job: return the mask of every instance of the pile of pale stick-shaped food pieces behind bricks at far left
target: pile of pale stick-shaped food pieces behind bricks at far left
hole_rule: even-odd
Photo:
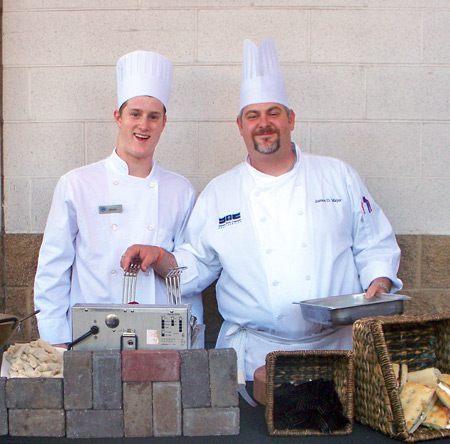
[[[11,364],[9,378],[63,377],[62,353],[42,339],[11,345],[4,357]]]

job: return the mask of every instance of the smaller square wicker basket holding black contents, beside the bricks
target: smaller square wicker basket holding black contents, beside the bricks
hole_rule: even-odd
[[[266,422],[270,435],[348,435],[353,430],[353,353],[350,351],[275,351],[266,357]],[[322,433],[316,429],[276,429],[274,426],[274,389],[282,383],[301,383],[316,379],[333,380],[335,390],[349,423],[342,429]]]

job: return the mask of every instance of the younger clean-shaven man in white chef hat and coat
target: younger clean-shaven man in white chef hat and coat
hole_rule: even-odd
[[[75,303],[122,303],[122,253],[133,243],[172,251],[184,241],[195,201],[188,180],[153,160],[166,125],[170,60],[135,51],[119,59],[116,75],[117,147],[107,159],[61,177],[45,228],[34,300],[39,334],[52,344],[72,340]],[[139,273],[136,300],[166,302],[165,281],[152,269]],[[189,302],[202,322],[201,295]]]

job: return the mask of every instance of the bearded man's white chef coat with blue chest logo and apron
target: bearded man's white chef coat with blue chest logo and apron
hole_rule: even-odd
[[[402,286],[392,227],[358,174],[340,160],[295,149],[297,161],[282,176],[247,161],[214,179],[175,252],[188,267],[185,294],[220,276],[225,322],[216,346],[245,349],[247,380],[272,350],[351,348],[351,326],[324,331],[293,303],[358,293],[382,276],[392,291]]]

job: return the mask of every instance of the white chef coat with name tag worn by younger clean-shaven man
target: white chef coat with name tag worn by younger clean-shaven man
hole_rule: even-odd
[[[114,151],[59,180],[45,228],[34,286],[39,334],[51,343],[72,340],[76,303],[122,303],[120,259],[132,244],[168,251],[184,241],[195,192],[184,177],[153,162],[150,175],[128,175]],[[121,205],[121,212],[111,208]],[[100,214],[100,208],[107,207]],[[113,210],[114,211],[114,210]],[[166,304],[165,280],[150,268],[138,273],[136,301]],[[184,300],[183,302],[187,302]],[[202,323],[201,294],[189,298]]]

